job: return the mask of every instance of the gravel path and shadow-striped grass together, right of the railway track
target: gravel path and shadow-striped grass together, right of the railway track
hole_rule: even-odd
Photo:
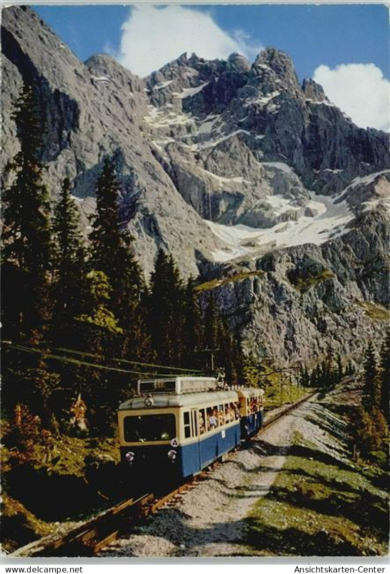
[[[385,553],[383,532],[369,530],[369,522],[379,515],[365,515],[363,519],[359,513],[355,517],[350,512],[352,507],[356,510],[364,492],[376,506],[386,506],[385,492],[373,490],[372,483],[349,460],[346,422],[330,408],[334,401],[342,403],[344,398],[340,389],[331,398],[319,400],[315,395],[232,455],[209,479],[186,492],[177,506],[163,509],[100,556]],[[297,460],[303,461],[305,470],[294,467]],[[323,484],[316,486],[315,472],[324,475],[327,468],[334,472],[337,495],[336,491],[329,495]],[[351,496],[356,491],[357,498],[343,498],[343,488]],[[337,511],[332,513],[329,507],[335,496]],[[379,517],[384,520],[384,530],[385,513]],[[336,527],[327,526],[328,522],[334,524],[334,515],[338,515],[340,525],[337,532]]]

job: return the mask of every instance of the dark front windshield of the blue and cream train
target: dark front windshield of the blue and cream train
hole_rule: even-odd
[[[157,440],[172,440],[176,437],[174,414],[125,417],[123,428],[126,443],[147,443]]]

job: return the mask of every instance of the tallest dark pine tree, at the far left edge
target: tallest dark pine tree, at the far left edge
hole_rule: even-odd
[[[42,183],[40,148],[41,113],[33,88],[24,84],[15,102],[13,119],[20,151],[12,169],[15,178],[3,193],[3,290],[10,297],[7,319],[15,321],[13,336],[40,342],[50,317],[48,271],[52,257],[50,203]],[[19,297],[11,297],[15,282],[21,281]],[[13,300],[13,301],[12,301]]]

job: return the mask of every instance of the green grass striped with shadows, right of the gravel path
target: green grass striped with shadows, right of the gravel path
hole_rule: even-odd
[[[248,553],[384,556],[388,497],[374,486],[373,474],[295,435],[286,465],[247,518]]]

